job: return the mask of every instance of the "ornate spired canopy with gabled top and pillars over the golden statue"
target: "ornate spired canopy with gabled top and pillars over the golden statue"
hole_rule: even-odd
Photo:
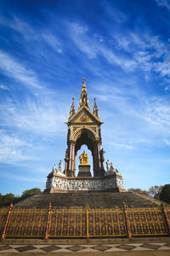
[[[94,112],[88,106],[88,92],[85,79],[82,79],[82,91],[79,108],[75,113],[74,98],[72,99],[70,117],[67,121],[68,134],[65,153],[65,174],[75,177],[77,151],[83,144],[91,150],[94,163],[94,176],[104,176],[104,158],[101,158],[101,133],[102,125],[98,115],[98,107],[94,99]]]

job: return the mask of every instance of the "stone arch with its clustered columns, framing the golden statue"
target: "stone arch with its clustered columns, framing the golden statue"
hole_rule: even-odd
[[[101,139],[98,139],[96,133],[89,128],[78,128],[67,141],[68,148],[65,155],[65,174],[67,177],[75,177],[77,151],[86,145],[92,152],[94,176],[103,176],[104,167],[100,160]]]

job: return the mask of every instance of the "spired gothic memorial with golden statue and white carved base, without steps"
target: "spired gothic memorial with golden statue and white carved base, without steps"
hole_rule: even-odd
[[[65,170],[63,163],[59,161],[59,168],[54,165],[52,172],[48,174],[46,192],[70,192],[70,191],[119,191],[125,192],[122,175],[109,162],[106,161],[105,150],[101,148],[102,139],[100,126],[103,123],[99,119],[99,109],[94,98],[94,112],[88,105],[88,92],[85,79],[82,79],[82,91],[79,107],[76,112],[74,98],[72,98],[68,125],[67,148],[65,150]],[[79,156],[79,172],[76,177],[77,152],[82,145],[87,145],[93,157],[94,177],[88,165],[88,154],[83,152]]]

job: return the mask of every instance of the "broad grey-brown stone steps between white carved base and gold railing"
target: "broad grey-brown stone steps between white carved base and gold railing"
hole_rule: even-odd
[[[91,192],[91,193],[54,193],[38,194],[20,201],[15,207],[157,207],[159,201],[150,201],[147,198],[132,192]]]

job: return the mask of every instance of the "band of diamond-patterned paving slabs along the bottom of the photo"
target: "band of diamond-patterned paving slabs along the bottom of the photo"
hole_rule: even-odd
[[[144,255],[144,252],[166,252],[167,255],[170,255],[170,243],[168,241],[166,242],[143,242],[143,243],[116,243],[116,244],[68,244],[68,245],[62,245],[62,244],[53,244],[53,245],[47,245],[47,244],[41,244],[41,245],[35,245],[35,244],[1,244],[0,245],[0,254],[5,253],[35,253],[35,255],[38,255],[39,253],[78,253],[79,255],[83,255],[84,253],[88,253],[87,255],[94,255],[94,253],[99,253],[101,255],[110,253],[123,253],[123,252],[140,252],[141,255]],[[159,255],[157,254],[148,254],[148,255]],[[9,255],[9,254],[8,254]],[[121,254],[120,254],[121,255]],[[132,254],[133,255],[133,254]],[[161,254],[160,254],[161,255]],[[166,255],[166,254],[162,254]]]

